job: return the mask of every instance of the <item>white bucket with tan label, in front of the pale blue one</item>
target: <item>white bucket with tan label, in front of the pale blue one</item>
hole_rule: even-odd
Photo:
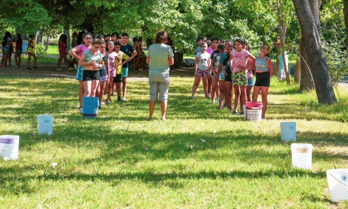
[[[292,167],[312,169],[312,144],[291,144]]]

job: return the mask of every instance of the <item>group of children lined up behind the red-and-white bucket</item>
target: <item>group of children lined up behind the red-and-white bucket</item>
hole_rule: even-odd
[[[243,105],[246,102],[257,102],[261,92],[263,104],[261,117],[264,118],[270,77],[273,74],[273,65],[268,54],[269,46],[262,45],[260,55],[254,57],[243,38],[234,41],[197,38],[196,42],[198,46],[195,50],[191,99],[195,99],[195,92],[202,81],[204,95],[211,99],[211,104],[215,104],[216,101],[219,103],[218,109],[227,107],[232,114],[243,115]],[[254,92],[251,97],[253,87]],[[232,106],[233,91],[234,106]],[[239,105],[241,111],[238,113]]]

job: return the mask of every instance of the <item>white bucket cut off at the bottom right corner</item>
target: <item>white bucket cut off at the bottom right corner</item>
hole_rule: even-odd
[[[330,169],[326,171],[332,202],[348,200],[348,169]]]

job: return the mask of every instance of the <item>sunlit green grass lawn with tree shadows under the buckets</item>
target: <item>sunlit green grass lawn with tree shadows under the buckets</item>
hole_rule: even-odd
[[[339,104],[272,79],[268,119],[249,122],[210,105],[202,87],[190,100],[192,82],[171,78],[168,121],[159,106],[146,121],[148,82],[129,81],[129,102],[85,119],[74,79],[0,77],[1,134],[20,135],[19,159],[0,159],[1,208],[348,207],[330,202],[326,180],[348,165]],[[347,111],[348,87],[339,92]],[[36,135],[38,114],[54,115],[53,135]],[[312,170],[292,168],[280,121],[313,144]]]

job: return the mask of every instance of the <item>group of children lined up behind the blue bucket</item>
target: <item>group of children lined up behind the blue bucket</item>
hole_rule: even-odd
[[[125,102],[128,62],[137,55],[137,51],[128,43],[128,34],[122,33],[119,36],[114,32],[111,36],[96,35],[93,38],[91,33],[85,32],[82,41],[79,42],[77,39],[77,43],[80,44],[69,51],[72,57],[79,60],[76,66],[76,80],[80,83],[80,113],[83,112],[83,97],[98,97],[101,108],[105,90],[105,104],[111,102],[110,96],[115,89],[117,102]]]

